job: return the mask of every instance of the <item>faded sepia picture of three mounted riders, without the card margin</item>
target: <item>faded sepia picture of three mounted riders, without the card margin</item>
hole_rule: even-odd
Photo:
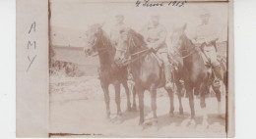
[[[50,137],[227,136],[229,2],[48,7]]]

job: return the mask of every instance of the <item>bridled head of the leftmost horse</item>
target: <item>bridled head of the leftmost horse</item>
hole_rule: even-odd
[[[96,23],[89,25],[89,28],[86,31],[87,42],[86,46],[84,47],[84,52],[89,56],[98,50],[98,43],[102,39],[103,35],[103,30],[101,27],[102,24]]]

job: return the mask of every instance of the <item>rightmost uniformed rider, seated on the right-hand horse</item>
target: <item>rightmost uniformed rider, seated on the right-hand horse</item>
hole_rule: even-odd
[[[209,23],[210,13],[204,12],[201,18],[201,24],[196,29],[196,36],[192,39],[192,42],[199,46],[203,51],[207,59],[210,61],[211,66],[216,74],[214,81],[215,87],[220,86],[220,79],[222,79],[221,64],[217,60],[217,48],[216,41],[218,38],[217,28],[213,24]]]

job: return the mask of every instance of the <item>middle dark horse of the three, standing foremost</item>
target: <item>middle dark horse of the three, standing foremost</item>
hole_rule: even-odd
[[[163,69],[152,49],[147,47],[146,42],[141,34],[133,29],[121,31],[121,35],[116,48],[115,61],[120,65],[129,64],[134,81],[135,89],[139,96],[140,121],[144,123],[144,92],[151,92],[151,106],[153,110],[153,125],[158,125],[157,117],[157,88],[164,87],[165,77]],[[170,100],[170,116],[173,116],[173,91],[166,89]],[[180,106],[183,113],[182,106]]]

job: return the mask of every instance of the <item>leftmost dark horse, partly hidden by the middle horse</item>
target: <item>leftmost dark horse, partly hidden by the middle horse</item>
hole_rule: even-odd
[[[114,85],[115,88],[115,103],[117,106],[117,117],[121,116],[120,109],[120,84],[123,85],[127,95],[127,110],[131,111],[130,92],[127,86],[127,67],[117,67],[114,63],[115,48],[111,45],[106,33],[102,30],[101,24],[93,24],[86,31],[87,45],[84,51],[87,55],[92,56],[97,52],[99,58],[99,79],[102,90],[104,92],[104,101],[106,105],[106,116],[110,117],[109,110],[109,91],[108,86]],[[136,108],[135,94],[133,95],[133,109]]]

